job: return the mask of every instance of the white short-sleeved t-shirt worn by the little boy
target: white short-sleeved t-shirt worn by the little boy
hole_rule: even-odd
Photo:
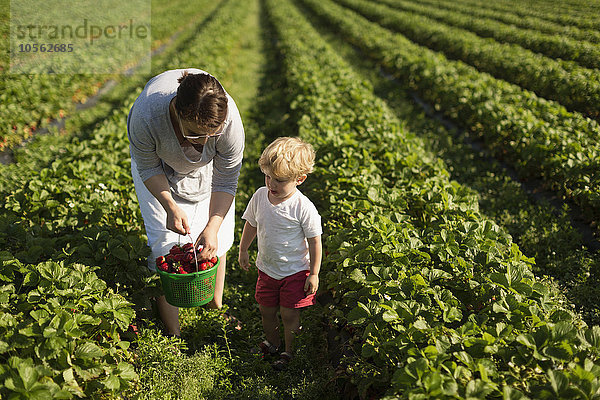
[[[315,205],[299,190],[273,205],[266,186],[252,196],[242,218],[257,228],[256,266],[274,279],[310,269],[306,238],[323,233]]]

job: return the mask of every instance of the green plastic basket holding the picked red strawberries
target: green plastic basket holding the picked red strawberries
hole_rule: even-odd
[[[175,307],[200,307],[215,296],[217,268],[221,259],[206,271],[171,274],[158,270],[167,302]]]

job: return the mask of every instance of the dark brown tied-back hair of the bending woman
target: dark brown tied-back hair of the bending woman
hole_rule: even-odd
[[[175,109],[181,118],[206,129],[218,128],[227,118],[227,95],[219,81],[208,74],[184,71],[177,80]]]

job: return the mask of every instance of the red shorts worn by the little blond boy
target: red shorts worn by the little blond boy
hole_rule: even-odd
[[[278,280],[258,270],[254,298],[265,307],[302,308],[316,302],[315,294],[306,295],[304,284],[309,271],[300,271]]]

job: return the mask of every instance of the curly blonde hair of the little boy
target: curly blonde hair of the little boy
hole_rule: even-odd
[[[258,159],[260,170],[278,179],[296,179],[313,171],[315,150],[295,137],[275,139]]]

